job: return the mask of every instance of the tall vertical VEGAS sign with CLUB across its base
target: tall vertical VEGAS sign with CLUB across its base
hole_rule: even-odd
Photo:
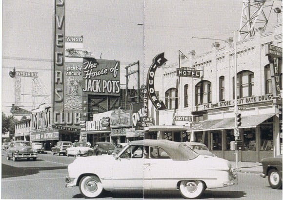
[[[81,111],[64,110],[65,1],[55,0],[53,120],[52,126],[67,131],[80,130]]]

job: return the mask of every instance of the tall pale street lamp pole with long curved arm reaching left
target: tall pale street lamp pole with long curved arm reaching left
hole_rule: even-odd
[[[199,38],[199,37],[192,37],[194,39],[205,39],[205,40],[221,40],[221,39],[213,39],[213,38]],[[234,49],[234,60],[235,60],[235,75],[234,75],[234,94],[235,94],[235,104],[234,104],[234,112],[235,112],[235,126],[234,126],[234,136],[235,140],[237,141],[240,137],[240,132],[239,132],[239,126],[237,123],[237,116],[238,116],[238,104],[237,104],[237,36],[236,36],[236,31],[234,31],[234,46],[226,41],[226,40],[221,40],[229,44],[233,49]],[[238,168],[238,148],[235,148],[235,154],[236,154],[236,168]]]

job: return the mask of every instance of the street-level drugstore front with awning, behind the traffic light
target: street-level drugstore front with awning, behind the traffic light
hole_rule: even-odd
[[[194,140],[206,144],[218,157],[235,161],[235,151],[231,147],[235,141],[235,118],[204,120],[200,123],[202,128],[191,132]],[[239,160],[259,162],[263,158],[273,157],[278,151],[282,152],[279,123],[279,117],[275,114],[242,117],[239,138],[243,143]]]

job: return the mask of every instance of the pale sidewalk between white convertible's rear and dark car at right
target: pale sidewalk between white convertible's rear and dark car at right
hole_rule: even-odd
[[[260,174],[263,172],[263,165],[260,162],[238,162],[238,168],[236,169],[236,162],[229,161],[232,164],[232,168],[235,168],[237,172]]]

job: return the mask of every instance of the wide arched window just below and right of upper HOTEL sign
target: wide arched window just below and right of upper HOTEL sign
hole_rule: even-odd
[[[195,105],[211,103],[211,82],[202,80],[195,86]]]

